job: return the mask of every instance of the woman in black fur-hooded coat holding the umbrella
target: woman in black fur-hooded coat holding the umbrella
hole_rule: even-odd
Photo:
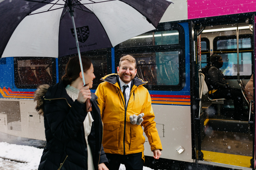
[[[46,147],[38,170],[108,170],[102,147],[103,124],[97,96],[90,92],[95,78],[91,61],[78,57],[67,63],[62,82],[35,91],[36,110],[44,116]],[[82,74],[85,83],[83,86]],[[85,102],[90,99],[92,111]]]

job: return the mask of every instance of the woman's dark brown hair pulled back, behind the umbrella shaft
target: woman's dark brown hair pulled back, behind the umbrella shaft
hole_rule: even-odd
[[[81,57],[82,65],[84,73],[90,69],[92,62],[87,57]],[[62,76],[61,80],[65,85],[70,85],[73,81],[75,81],[79,77],[79,73],[81,72],[80,63],[78,56],[74,56],[69,59],[66,68],[65,75]]]

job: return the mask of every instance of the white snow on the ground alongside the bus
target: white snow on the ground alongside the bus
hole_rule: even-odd
[[[35,148],[33,146],[24,146],[0,142],[0,170],[37,170],[43,149]],[[119,170],[125,170],[125,166],[121,164]],[[143,170],[152,170],[148,167],[143,167]]]

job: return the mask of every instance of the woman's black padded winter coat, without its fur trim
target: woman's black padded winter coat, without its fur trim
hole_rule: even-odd
[[[42,95],[46,147],[44,148],[38,170],[87,170],[87,145],[83,121],[87,115],[85,104],[73,101],[61,82],[48,88]],[[92,123],[88,143],[91,148],[94,169],[98,164],[108,163],[102,146],[103,124],[97,96],[91,94]]]

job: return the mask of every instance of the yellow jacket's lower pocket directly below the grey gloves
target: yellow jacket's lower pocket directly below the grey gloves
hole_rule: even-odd
[[[144,147],[145,137],[140,125],[131,124],[131,145],[130,150],[137,150]]]

